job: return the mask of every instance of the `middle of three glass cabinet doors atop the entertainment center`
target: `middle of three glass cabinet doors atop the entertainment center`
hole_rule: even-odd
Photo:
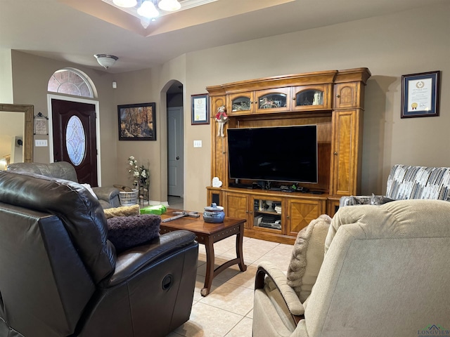
[[[257,91],[256,112],[281,112],[290,110],[290,88]]]

